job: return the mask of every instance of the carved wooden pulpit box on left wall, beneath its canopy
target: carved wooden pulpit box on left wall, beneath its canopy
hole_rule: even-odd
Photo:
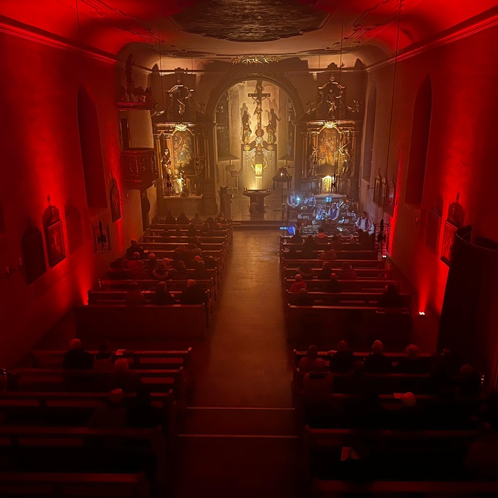
[[[135,148],[122,151],[124,181],[129,189],[147,189],[157,178],[154,149]]]

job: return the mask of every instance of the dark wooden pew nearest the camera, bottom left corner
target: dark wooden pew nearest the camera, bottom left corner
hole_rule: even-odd
[[[150,489],[143,472],[0,472],[0,495],[40,498],[149,498]]]

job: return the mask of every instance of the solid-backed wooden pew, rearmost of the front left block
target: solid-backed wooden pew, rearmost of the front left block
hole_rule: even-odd
[[[75,307],[75,322],[77,337],[82,340],[205,339],[208,335],[204,304],[89,304]]]

